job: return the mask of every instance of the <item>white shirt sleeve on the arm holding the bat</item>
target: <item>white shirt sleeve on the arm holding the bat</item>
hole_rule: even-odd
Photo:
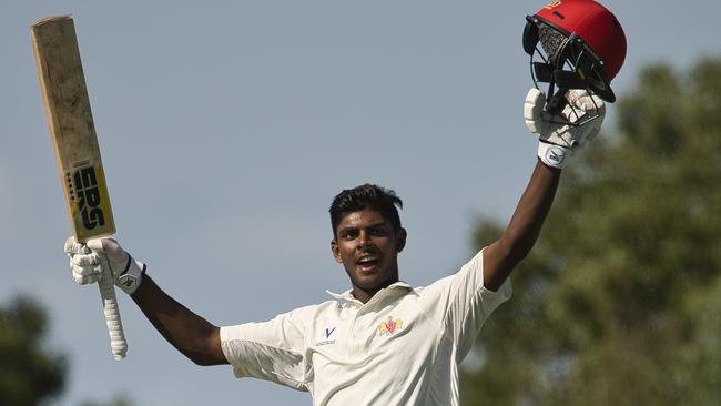
[[[221,347],[235,376],[307,390],[305,313],[298,309],[268,322],[221,327]]]

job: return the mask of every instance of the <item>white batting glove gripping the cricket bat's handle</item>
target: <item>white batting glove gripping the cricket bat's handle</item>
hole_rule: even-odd
[[[115,286],[132,295],[145,272],[145,264],[133,260],[113,238],[94,238],[82,244],[69,237],[64,252],[70,257],[72,276],[80,285],[100,281],[102,267],[108,266]]]

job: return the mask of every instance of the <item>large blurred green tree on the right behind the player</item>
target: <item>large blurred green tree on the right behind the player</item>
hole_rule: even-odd
[[[617,113],[565,170],[464,405],[721,404],[721,59],[648,68]]]

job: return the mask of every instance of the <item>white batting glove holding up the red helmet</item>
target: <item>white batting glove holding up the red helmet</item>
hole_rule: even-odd
[[[536,88],[528,91],[524,103],[526,126],[538,135],[538,156],[549,166],[563,168],[568,156],[598,135],[606,116],[603,101],[585,90],[569,90],[566,99],[561,116],[544,110],[546,94]],[[593,115],[598,116],[589,120]]]

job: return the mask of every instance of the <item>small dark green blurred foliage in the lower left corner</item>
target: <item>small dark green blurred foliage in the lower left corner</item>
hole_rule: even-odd
[[[58,396],[65,359],[43,343],[45,312],[27,297],[0,307],[0,405],[30,406]]]

